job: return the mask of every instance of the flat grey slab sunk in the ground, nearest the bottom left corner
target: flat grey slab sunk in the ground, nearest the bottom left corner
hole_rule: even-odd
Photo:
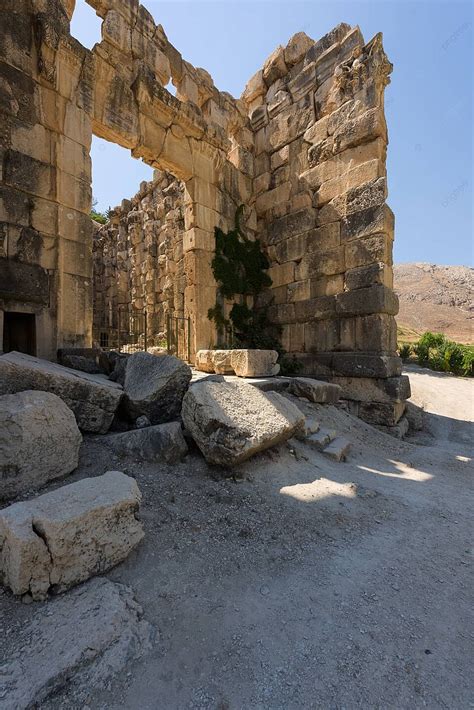
[[[3,659],[2,707],[24,710],[71,687],[105,687],[152,648],[155,631],[142,614],[129,587],[102,577],[36,607]]]

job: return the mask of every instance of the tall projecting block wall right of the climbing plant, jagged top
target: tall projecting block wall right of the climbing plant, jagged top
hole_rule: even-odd
[[[264,300],[283,345],[307,374],[375,377],[382,390],[400,374],[385,204],[391,69],[381,35],[366,44],[341,24],[318,42],[300,33],[277,48],[242,96],[257,234],[272,263]]]

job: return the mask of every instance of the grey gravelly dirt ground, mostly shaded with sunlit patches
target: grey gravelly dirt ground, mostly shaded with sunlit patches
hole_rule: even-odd
[[[84,443],[67,480],[119,469],[145,539],[107,576],[159,631],[100,691],[44,708],[472,708],[474,382],[410,369],[426,429],[400,442],[298,401],[352,441],[335,463],[291,441],[231,471]],[[8,623],[25,607],[0,598]]]

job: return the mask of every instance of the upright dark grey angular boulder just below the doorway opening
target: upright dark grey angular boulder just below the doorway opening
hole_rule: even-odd
[[[124,381],[128,415],[136,419],[144,414],[152,424],[176,419],[191,376],[189,365],[174,355],[130,355]]]

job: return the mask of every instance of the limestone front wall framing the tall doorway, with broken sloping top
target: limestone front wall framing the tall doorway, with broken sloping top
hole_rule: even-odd
[[[136,0],[90,0],[103,20],[91,51],[70,34],[74,4],[7,0],[0,9],[0,320],[32,313],[44,357],[91,343],[95,134],[183,181],[184,308],[193,351],[207,347],[214,226],[231,226],[251,194],[244,103],[186,62]],[[170,78],[176,97],[164,88]]]

